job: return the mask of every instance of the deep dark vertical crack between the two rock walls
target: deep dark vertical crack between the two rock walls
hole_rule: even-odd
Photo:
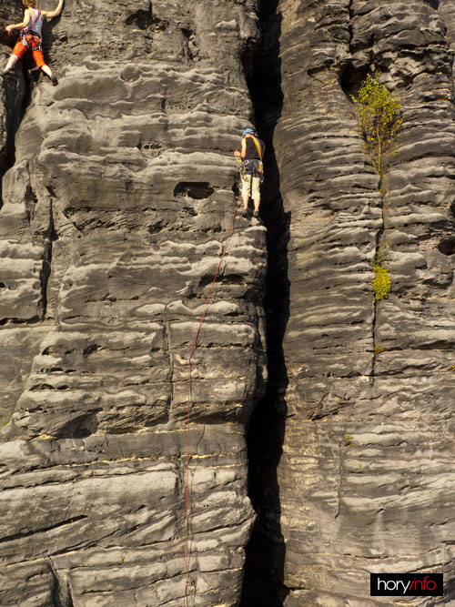
[[[278,0],[262,0],[261,38],[254,58],[242,56],[254,106],[258,135],[266,144],[266,179],[260,216],[268,228],[268,277],[264,307],[267,323],[268,387],[248,424],[248,495],[257,521],[247,546],[241,607],[279,607],[288,595],[284,584],[285,541],[280,530],[278,464],[287,417],[288,373],[283,339],[289,316],[288,240],[290,213],[280,194],[273,137],[283,106]]]

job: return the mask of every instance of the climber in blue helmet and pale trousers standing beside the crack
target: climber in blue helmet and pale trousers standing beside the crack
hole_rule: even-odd
[[[259,186],[264,178],[262,158],[264,156],[265,144],[259,139],[252,128],[246,128],[242,134],[241,149],[234,152],[235,156],[242,161],[240,175],[242,179],[243,217],[248,218],[249,197],[253,198],[253,217],[259,218],[260,191]]]

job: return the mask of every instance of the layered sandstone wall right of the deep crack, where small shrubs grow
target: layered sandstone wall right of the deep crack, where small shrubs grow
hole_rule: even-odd
[[[399,604],[455,604],[453,3],[279,0],[262,17],[274,82],[252,89],[282,196],[280,211],[268,200],[278,334],[289,313],[250,436],[243,604],[398,604],[369,597],[369,572],[442,572],[443,598]],[[373,66],[404,114],[384,200],[349,100]],[[376,305],[379,241],[392,287]]]

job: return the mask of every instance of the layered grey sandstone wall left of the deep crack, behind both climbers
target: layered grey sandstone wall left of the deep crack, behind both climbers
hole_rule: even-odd
[[[187,355],[236,207],[257,37],[255,0],[66,0],[44,32],[59,85],[21,68],[2,84],[2,605],[181,605],[187,440],[187,604],[238,604],[266,382],[257,220],[234,224],[188,435]]]

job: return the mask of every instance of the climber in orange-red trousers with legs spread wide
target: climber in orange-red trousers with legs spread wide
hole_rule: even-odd
[[[8,35],[13,33],[14,29],[20,29],[20,39],[17,41],[13,54],[9,57],[8,63],[0,76],[5,76],[10,72],[15,64],[21,59],[27,50],[32,51],[35,64],[41,69],[46,76],[56,86],[58,81],[52,73],[49,66],[45,65],[45,57],[43,56],[43,48],[41,46],[41,28],[44,19],[53,19],[60,15],[64,0],[58,0],[58,5],[54,11],[40,11],[38,9],[39,0],[22,0],[22,4],[26,7],[24,13],[24,21],[15,25],[7,25],[6,31]]]

